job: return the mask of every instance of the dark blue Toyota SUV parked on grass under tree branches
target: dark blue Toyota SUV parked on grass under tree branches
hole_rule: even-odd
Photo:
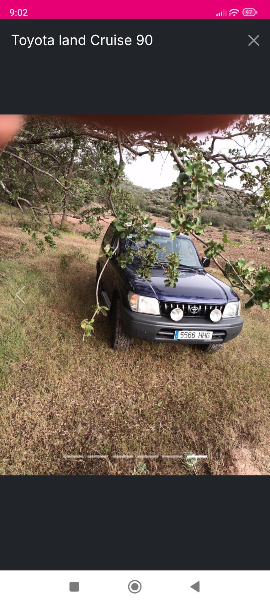
[[[124,253],[125,240],[102,273],[99,298],[102,296],[110,308],[111,347],[115,350],[128,350],[131,337],[138,337],[159,343],[196,344],[206,352],[216,352],[242,329],[236,292],[206,272],[210,260],[199,258],[189,236],[179,235],[172,241],[170,233],[171,230],[156,227],[150,244],[154,241],[160,245],[163,264],[172,251],[181,257],[175,288],[165,287],[160,264],[152,268],[150,279],[137,274],[139,256],[127,268],[119,267],[116,256]],[[114,249],[118,236],[114,227],[109,226],[96,264],[97,279],[106,261],[104,247],[109,244]],[[132,245],[131,236],[128,246]],[[165,253],[163,247],[166,247]]]

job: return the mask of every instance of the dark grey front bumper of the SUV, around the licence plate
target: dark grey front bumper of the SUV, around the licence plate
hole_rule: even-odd
[[[174,339],[175,331],[181,329],[209,330],[213,331],[212,343],[225,343],[239,335],[243,319],[240,317],[221,318],[218,323],[212,323],[206,318],[183,317],[181,321],[174,322],[170,317],[140,314],[122,306],[122,323],[127,335],[145,339],[145,341],[200,345],[209,343],[209,339],[180,341],[180,339]]]

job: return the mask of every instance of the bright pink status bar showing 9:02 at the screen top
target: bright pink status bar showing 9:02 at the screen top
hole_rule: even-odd
[[[225,6],[225,8],[224,8]],[[269,19],[270,2],[258,4],[224,4],[223,0],[199,2],[163,2],[136,0],[126,2],[65,2],[58,0],[2,0],[1,19]]]

